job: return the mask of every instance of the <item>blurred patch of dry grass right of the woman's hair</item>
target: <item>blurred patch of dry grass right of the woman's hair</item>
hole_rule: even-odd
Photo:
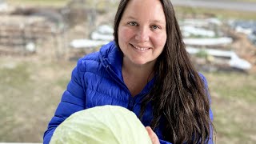
[[[256,75],[205,74],[212,96],[217,143],[256,142]]]

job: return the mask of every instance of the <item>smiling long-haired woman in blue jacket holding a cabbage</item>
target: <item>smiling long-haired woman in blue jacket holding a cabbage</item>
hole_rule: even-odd
[[[114,42],[79,59],[44,135],[70,114],[126,107],[153,143],[213,143],[206,79],[190,62],[170,0],[121,0]]]

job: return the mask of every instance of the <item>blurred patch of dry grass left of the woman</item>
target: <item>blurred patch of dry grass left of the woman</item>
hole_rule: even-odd
[[[0,142],[42,142],[74,62],[0,60]]]

